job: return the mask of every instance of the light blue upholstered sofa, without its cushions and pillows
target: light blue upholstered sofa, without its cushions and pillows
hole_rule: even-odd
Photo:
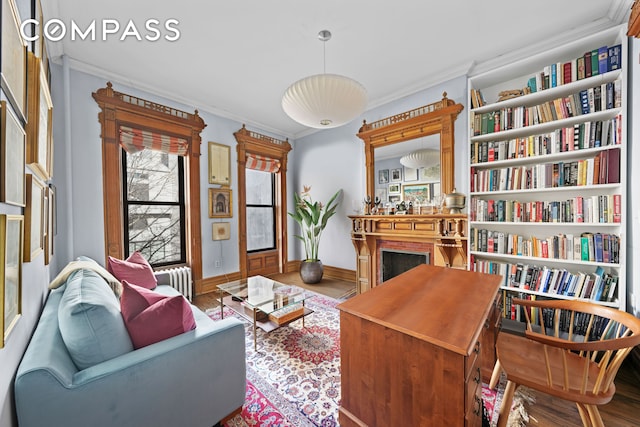
[[[72,280],[104,282],[80,270],[50,292],[16,374],[20,427],[211,427],[242,406],[244,326],[234,318],[214,322],[194,306],[195,329],[78,369],[59,327]],[[177,294],[163,284],[155,290]]]

